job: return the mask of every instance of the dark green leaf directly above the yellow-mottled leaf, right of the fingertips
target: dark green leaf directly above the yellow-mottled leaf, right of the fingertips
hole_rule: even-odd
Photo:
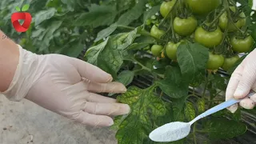
[[[165,79],[158,81],[157,84],[170,98],[182,98],[188,94],[189,85],[177,67],[167,66]]]

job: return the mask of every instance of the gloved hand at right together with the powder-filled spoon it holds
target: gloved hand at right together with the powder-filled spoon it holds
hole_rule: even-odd
[[[226,102],[214,106],[198,115],[191,122],[170,122],[158,127],[150,133],[154,142],[174,142],[190,134],[190,126],[201,118],[227,108],[234,113],[240,106],[253,109],[256,102],[256,50],[252,51],[231,75],[226,89]]]

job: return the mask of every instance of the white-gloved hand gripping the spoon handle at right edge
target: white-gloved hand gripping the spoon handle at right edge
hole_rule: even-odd
[[[234,70],[226,89],[226,100],[230,98],[245,98],[250,90],[256,90],[256,50],[253,50],[242,63]],[[246,109],[253,109],[256,102],[256,94],[239,102]],[[230,106],[228,110],[234,113],[238,104]]]

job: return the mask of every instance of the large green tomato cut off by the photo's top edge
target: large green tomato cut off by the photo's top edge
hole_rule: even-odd
[[[194,14],[205,15],[216,9],[222,0],[186,0],[186,4]]]

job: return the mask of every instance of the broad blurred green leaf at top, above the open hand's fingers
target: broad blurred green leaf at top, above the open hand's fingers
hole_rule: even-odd
[[[117,15],[115,6],[98,6],[92,4],[88,13],[82,13],[74,21],[74,26],[92,26],[96,28],[98,26],[110,26],[114,22],[114,18]]]

